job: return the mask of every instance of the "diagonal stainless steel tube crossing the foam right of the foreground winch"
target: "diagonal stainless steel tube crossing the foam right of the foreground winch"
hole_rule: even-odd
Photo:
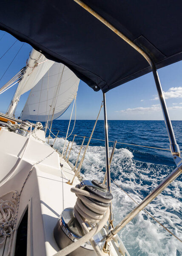
[[[131,211],[113,230],[108,234],[106,241],[110,241],[129,221],[131,221],[142,209],[145,208],[157,195],[159,195],[173,180],[182,173],[182,163],[171,172],[162,183],[159,184],[133,211]]]

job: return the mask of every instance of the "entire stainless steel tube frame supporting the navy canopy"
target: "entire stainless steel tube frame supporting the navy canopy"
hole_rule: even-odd
[[[160,84],[159,76],[156,70],[156,65],[151,57],[144,52],[140,47],[134,44],[129,38],[127,38],[122,32],[116,29],[111,23],[105,20],[102,16],[100,16],[97,12],[91,9],[88,5],[83,3],[81,0],[74,0],[74,2],[78,3],[82,8],[84,8],[91,15],[100,20],[105,26],[111,29],[115,34],[117,34],[120,38],[122,38],[127,44],[133,47],[137,52],[139,52],[150,64],[151,70],[153,72],[156,89],[159,95],[159,101],[162,108],[162,113],[165,120],[165,125],[168,131],[168,137],[170,141],[170,149],[171,154],[173,156],[173,160],[176,163],[177,168],[173,170],[173,172],[166,177],[165,180],[162,181],[159,186],[157,186],[136,208],[134,208],[107,236],[106,241],[110,241],[113,239],[113,236],[117,234],[129,221],[131,221],[146,205],[148,205],[157,195],[159,195],[173,180],[175,180],[182,173],[182,158],[180,157],[179,145],[176,143],[176,138],[173,132],[173,126],[171,124],[171,120],[168,114],[168,109],[165,103],[164,94],[162,91],[162,87]],[[108,124],[107,124],[107,113],[106,113],[106,105],[105,105],[105,93],[103,93],[104,99],[104,120],[105,120],[105,149],[106,149],[106,172],[107,172],[107,185],[108,190],[111,189],[111,177],[110,177],[110,166],[109,166],[109,155],[108,155]]]

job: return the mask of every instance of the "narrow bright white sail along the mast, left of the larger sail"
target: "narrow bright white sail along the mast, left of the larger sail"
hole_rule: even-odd
[[[23,74],[23,79],[18,84],[9,111],[7,112],[9,116],[13,116],[14,109],[17,106],[20,96],[28,90],[31,90],[53,64],[54,61],[48,60],[42,53],[37,52],[35,49],[31,51],[26,63],[27,67]]]

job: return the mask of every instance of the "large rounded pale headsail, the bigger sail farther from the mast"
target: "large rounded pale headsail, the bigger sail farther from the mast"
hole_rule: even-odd
[[[80,79],[68,67],[55,62],[31,89],[21,119],[40,122],[52,117],[57,119],[76,96],[79,82]]]

